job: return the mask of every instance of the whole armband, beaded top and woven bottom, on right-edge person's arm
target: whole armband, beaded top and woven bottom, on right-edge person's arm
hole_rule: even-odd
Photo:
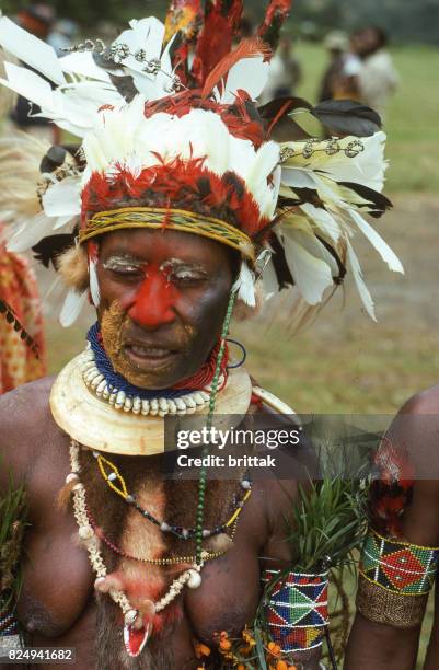
[[[438,547],[389,540],[369,530],[359,568],[358,611],[395,627],[420,624],[438,562]]]

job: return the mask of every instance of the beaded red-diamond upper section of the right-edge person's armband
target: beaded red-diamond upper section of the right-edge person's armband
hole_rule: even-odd
[[[369,530],[361,553],[360,574],[398,596],[425,596],[434,585],[439,548],[382,538]]]

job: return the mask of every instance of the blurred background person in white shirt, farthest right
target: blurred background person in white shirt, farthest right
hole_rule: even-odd
[[[359,73],[360,100],[381,117],[384,117],[389,99],[396,90],[400,77],[385,49],[388,36],[380,27],[371,25],[357,33],[355,49],[362,60]]]

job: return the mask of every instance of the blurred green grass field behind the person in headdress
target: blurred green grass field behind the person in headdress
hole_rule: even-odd
[[[324,66],[321,47],[300,44],[304,69],[299,94],[313,101]],[[377,223],[402,258],[405,277],[389,273],[373,250],[356,242],[378,323],[360,308],[347,282],[303,333],[288,332],[288,308],[276,317],[236,324],[233,335],[249,350],[249,368],[261,384],[302,413],[388,414],[439,379],[439,49],[393,51],[401,86],[386,119],[388,193],[394,210]],[[47,322],[49,366],[57,372],[83,346],[84,323],[63,332]],[[428,640],[430,614],[423,633]],[[421,667],[419,661],[419,668]]]

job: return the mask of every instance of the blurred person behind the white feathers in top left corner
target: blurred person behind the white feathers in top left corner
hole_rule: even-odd
[[[54,10],[47,4],[31,4],[18,13],[18,22],[21,27],[45,42],[47,42],[54,21]],[[39,138],[47,139],[51,143],[56,143],[58,141],[56,126],[49,124],[46,118],[35,117],[34,114],[38,112],[41,109],[37,105],[32,105],[31,112],[30,102],[19,95],[11,118],[20,130],[32,132]],[[32,116],[30,116],[30,113],[32,113]]]

